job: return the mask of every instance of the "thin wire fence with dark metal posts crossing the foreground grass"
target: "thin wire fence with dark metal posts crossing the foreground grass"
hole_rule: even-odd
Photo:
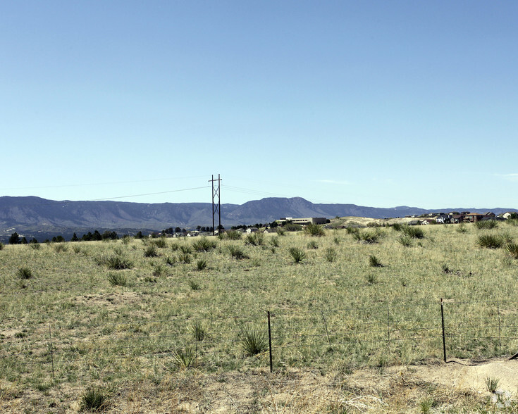
[[[518,302],[376,303],[309,311],[277,308],[247,315],[172,315],[40,321],[2,338],[4,372],[95,377],[117,372],[177,369],[189,363],[216,372],[247,367],[304,368],[336,358],[359,365],[426,358],[491,358],[518,352]],[[402,311],[404,308],[404,311]],[[408,316],[411,315],[411,316]],[[247,357],[244,335],[262,341]],[[13,330],[14,331],[14,330]],[[190,360],[182,361],[183,356]],[[180,357],[180,360],[178,359]],[[390,359],[392,358],[392,359]]]

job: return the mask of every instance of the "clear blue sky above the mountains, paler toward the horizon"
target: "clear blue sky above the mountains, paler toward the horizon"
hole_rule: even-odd
[[[209,202],[221,174],[222,203],[518,208],[517,22],[515,0],[3,1],[0,196]]]

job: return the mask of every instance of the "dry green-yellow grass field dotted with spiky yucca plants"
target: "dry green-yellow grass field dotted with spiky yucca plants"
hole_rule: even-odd
[[[515,220],[415,228],[4,246],[0,411],[518,412]]]

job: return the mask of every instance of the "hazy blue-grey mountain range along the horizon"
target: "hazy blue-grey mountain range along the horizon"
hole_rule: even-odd
[[[300,197],[266,198],[244,204],[221,204],[221,224],[253,225],[283,217],[361,216],[393,218],[439,211],[471,211],[499,214],[513,208],[425,208],[398,206],[375,208],[355,204],[317,204]],[[124,201],[52,201],[39,197],[0,197],[0,239],[13,232],[42,242],[49,235],[62,234],[67,239],[76,232],[115,230],[120,233],[138,230],[163,230],[168,227],[194,228],[212,225],[211,203],[128,203]],[[217,218],[216,218],[217,225]]]

